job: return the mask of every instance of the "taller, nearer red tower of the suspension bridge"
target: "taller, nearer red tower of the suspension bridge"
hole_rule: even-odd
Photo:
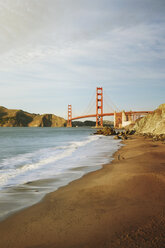
[[[103,127],[103,88],[96,88],[96,127]]]

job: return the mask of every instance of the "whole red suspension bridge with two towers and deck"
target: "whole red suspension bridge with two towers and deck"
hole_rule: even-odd
[[[67,127],[72,127],[72,121],[83,119],[83,118],[96,118],[96,127],[103,127],[103,117],[104,116],[114,116],[114,127],[121,128],[126,125],[131,124],[136,119],[146,114],[152,113],[153,111],[119,111],[119,112],[110,112],[104,113],[103,112],[103,88],[97,87],[96,88],[96,113],[95,114],[87,114],[81,115],[77,117],[72,117],[72,105],[68,105],[68,122]]]

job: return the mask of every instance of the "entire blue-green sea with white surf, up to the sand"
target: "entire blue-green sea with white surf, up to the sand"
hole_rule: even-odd
[[[0,128],[0,220],[112,161],[121,143],[93,128]]]

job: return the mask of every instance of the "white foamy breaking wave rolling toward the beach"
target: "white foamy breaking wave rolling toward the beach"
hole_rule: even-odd
[[[35,171],[38,171],[39,174],[43,174],[40,169],[49,170],[56,162],[71,157],[77,149],[96,141],[98,138],[98,136],[89,136],[83,141],[68,142],[65,146],[44,148],[32,153],[20,154],[4,159],[0,164],[0,187],[11,186],[15,183],[18,184],[22,179],[26,181],[27,172],[35,173]],[[65,166],[61,168],[57,166],[55,168],[57,173],[65,169]]]

